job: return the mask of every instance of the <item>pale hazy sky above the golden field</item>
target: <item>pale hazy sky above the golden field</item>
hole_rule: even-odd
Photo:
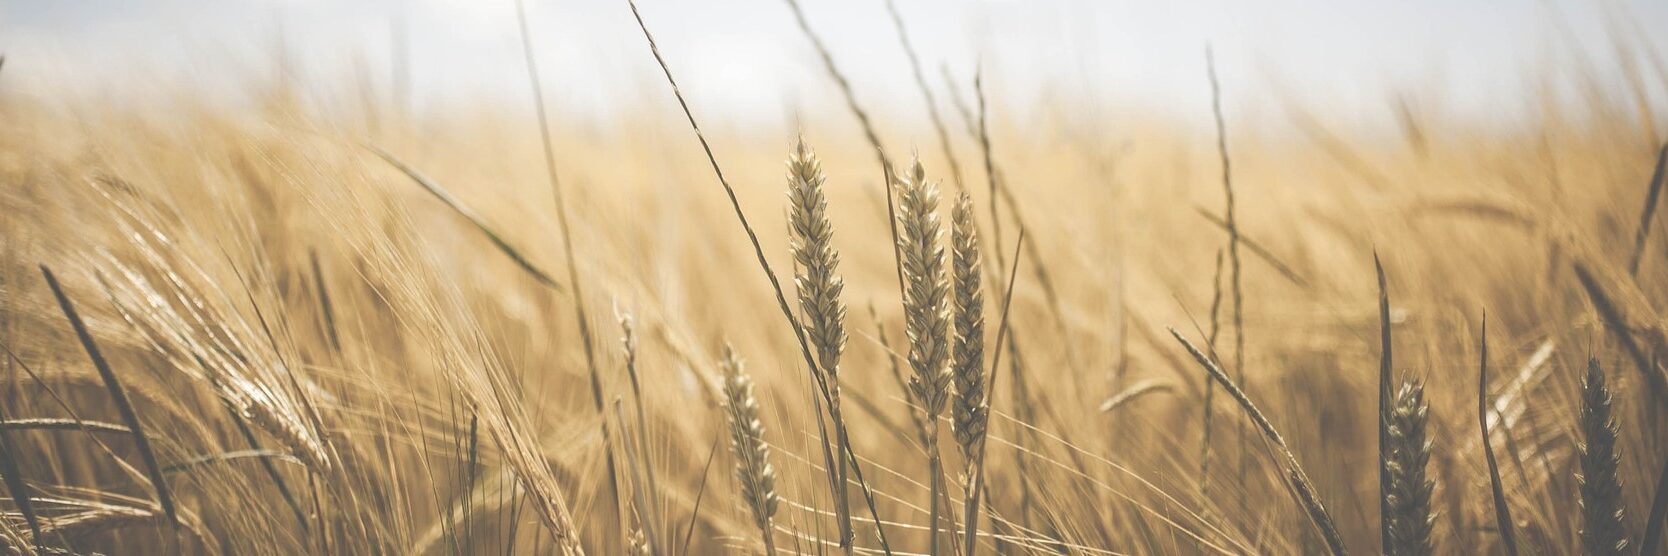
[[[801,0],[866,104],[916,119],[921,105],[884,0]],[[1213,43],[1231,107],[1281,92],[1328,117],[1374,122],[1396,92],[1446,112],[1511,119],[1535,78],[1586,52],[1620,94],[1606,20],[1626,37],[1668,28],[1660,0],[897,0],[929,78],[969,78],[992,95],[1196,119]],[[782,0],[642,0],[649,25],[697,109],[729,122],[782,124],[839,97]],[[570,119],[605,120],[664,95],[624,0],[529,0],[547,95]],[[247,90],[280,43],[317,90],[345,90],[355,63],[389,94],[404,25],[419,109],[525,107],[512,0],[0,0],[0,85],[40,95]],[[1575,50],[1571,48],[1575,42]],[[1668,37],[1658,37],[1668,42]],[[1663,53],[1658,53],[1663,57]],[[1650,72],[1650,60],[1641,58]],[[1570,75],[1568,72],[1555,77]],[[1651,80],[1655,95],[1661,80]],[[942,95],[942,92],[941,92]]]

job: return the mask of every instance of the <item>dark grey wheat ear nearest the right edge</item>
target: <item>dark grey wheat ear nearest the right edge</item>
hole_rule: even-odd
[[[1581,548],[1588,554],[1626,554],[1628,529],[1621,523],[1621,464],[1616,454],[1616,419],[1610,411],[1610,387],[1598,359],[1586,361],[1581,381]]]

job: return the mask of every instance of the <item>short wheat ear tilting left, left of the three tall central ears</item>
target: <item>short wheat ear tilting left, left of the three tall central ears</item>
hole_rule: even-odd
[[[764,422],[759,421],[759,401],[752,396],[752,377],[742,369],[736,349],[724,346],[724,409],[729,416],[731,451],[736,454],[736,483],[741,496],[752,509],[766,554],[776,554],[771,536],[771,519],[776,516],[776,469],[771,468],[771,444],[764,441]]]

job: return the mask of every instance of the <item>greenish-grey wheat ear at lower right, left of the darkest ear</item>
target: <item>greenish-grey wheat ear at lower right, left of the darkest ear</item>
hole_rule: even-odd
[[[1388,554],[1431,554],[1431,479],[1424,464],[1431,459],[1426,436],[1429,406],[1424,382],[1403,381],[1389,407],[1384,427],[1384,538]]]

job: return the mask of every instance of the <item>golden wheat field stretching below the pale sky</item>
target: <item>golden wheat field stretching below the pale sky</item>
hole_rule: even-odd
[[[0,539],[1665,554],[1660,67],[1371,132],[1203,48],[1213,127],[949,75],[904,129],[832,62],[779,132],[664,60],[602,130],[0,72]]]

